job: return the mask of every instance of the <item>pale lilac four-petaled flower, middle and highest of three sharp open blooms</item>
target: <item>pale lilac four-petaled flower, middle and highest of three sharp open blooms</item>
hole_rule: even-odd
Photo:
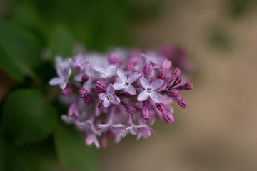
[[[114,83],[115,90],[124,90],[131,95],[136,95],[136,89],[132,86],[132,83],[139,78],[141,73],[135,72],[128,76],[122,69],[117,70],[117,76],[121,81]]]

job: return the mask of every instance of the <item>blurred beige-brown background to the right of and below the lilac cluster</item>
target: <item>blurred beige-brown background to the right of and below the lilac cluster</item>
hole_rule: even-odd
[[[188,49],[198,67],[195,88],[184,93],[188,108],[173,104],[175,123],[157,122],[151,138],[125,138],[100,150],[101,170],[257,170],[257,10],[232,19],[218,0],[163,1],[161,8],[131,35],[144,46]],[[208,41],[219,27],[227,48]]]

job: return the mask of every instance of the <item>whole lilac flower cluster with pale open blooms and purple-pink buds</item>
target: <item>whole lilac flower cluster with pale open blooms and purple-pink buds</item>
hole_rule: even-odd
[[[49,84],[59,85],[62,100],[69,104],[68,115],[61,119],[76,125],[86,145],[97,148],[106,147],[107,138],[115,142],[128,134],[138,140],[148,138],[154,133],[150,126],[155,118],[173,123],[171,103],[186,108],[179,91],[191,90],[193,84],[171,65],[172,58],[164,50],[57,56],[58,77]]]

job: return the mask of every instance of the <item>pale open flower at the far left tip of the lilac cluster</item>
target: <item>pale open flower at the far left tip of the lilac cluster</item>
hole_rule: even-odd
[[[49,81],[50,85],[59,85],[61,89],[66,88],[67,83],[69,81],[69,77],[71,76],[71,69],[63,69],[61,67],[57,68],[57,75],[59,77],[52,78]]]

